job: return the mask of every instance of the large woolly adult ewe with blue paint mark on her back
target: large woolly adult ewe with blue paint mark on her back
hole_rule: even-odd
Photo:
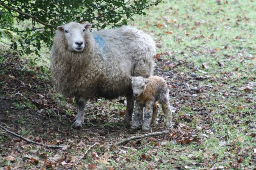
[[[51,52],[52,81],[63,96],[75,97],[81,127],[89,99],[126,96],[124,120],[131,120],[134,101],[129,76],[153,74],[156,46],[151,36],[135,28],[88,31],[92,25],[70,22],[57,27]]]

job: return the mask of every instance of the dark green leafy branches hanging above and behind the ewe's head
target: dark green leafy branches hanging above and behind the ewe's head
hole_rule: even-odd
[[[19,55],[35,53],[40,56],[40,48],[45,45],[51,46],[56,27],[63,23],[90,22],[96,29],[126,25],[134,15],[145,15],[143,9],[157,5],[161,1],[1,1],[0,29],[15,32],[15,38],[9,38],[10,45]]]

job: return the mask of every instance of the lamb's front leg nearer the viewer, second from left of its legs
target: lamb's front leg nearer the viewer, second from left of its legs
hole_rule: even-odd
[[[153,114],[153,105],[154,105],[153,102],[146,103],[146,106],[144,109],[144,122],[141,128],[143,131],[150,130],[150,123],[151,123],[151,118]]]

